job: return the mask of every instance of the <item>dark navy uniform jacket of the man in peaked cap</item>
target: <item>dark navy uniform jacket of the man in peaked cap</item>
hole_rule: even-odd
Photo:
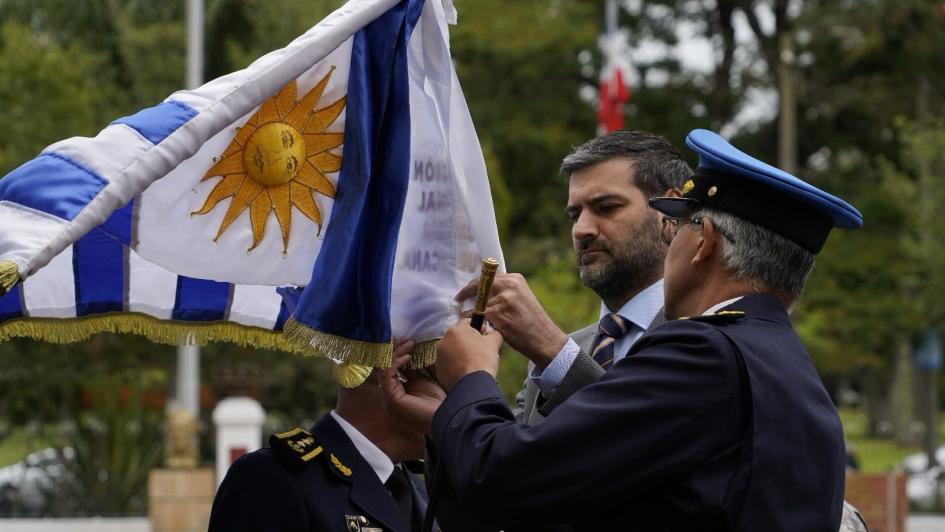
[[[464,377],[433,419],[453,488],[496,522],[578,529],[836,531],[840,421],[771,295],[648,331],[537,426]]]

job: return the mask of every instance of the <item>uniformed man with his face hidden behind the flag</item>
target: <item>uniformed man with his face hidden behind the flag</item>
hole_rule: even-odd
[[[339,387],[335,410],[310,432],[275,434],[270,447],[234,462],[213,501],[209,530],[420,530],[426,490],[402,462],[423,456],[423,434],[384,409],[376,377]]]

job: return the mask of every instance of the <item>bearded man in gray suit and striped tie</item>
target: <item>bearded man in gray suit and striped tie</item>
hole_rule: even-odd
[[[568,176],[571,242],[581,281],[601,299],[600,321],[564,335],[517,274],[498,274],[487,313],[505,333],[509,323],[529,319],[528,337],[509,334],[509,344],[529,358],[516,396],[516,419],[540,423],[568,396],[596,381],[647,329],[663,322],[663,258],[660,216],[647,201],[678,194],[692,170],[665,138],[623,130],[589,140],[564,158]],[[475,294],[476,285],[457,299]],[[544,353],[550,346],[553,358]]]

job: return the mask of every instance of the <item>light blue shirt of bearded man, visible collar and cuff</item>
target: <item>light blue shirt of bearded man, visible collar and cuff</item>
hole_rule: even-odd
[[[630,346],[643,336],[643,333],[653,323],[653,318],[656,317],[661,308],[663,308],[662,279],[641,290],[617,310],[617,314],[627,320],[630,328],[627,334],[614,343],[615,364],[626,356],[627,352],[630,351]],[[601,302],[601,318],[613,312],[604,302]],[[564,380],[564,376],[571,369],[571,365],[574,364],[574,360],[580,351],[581,348],[578,347],[577,343],[568,338],[567,343],[564,344],[561,351],[558,351],[558,354],[555,355],[555,358],[544,371],[535,368],[529,378],[537,381],[538,388],[543,396],[551,396],[558,384]]]

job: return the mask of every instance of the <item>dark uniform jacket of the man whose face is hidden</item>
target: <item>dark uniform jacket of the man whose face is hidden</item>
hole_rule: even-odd
[[[287,463],[269,447],[234,462],[217,490],[209,530],[349,532],[347,521],[354,518],[359,528],[410,532],[390,492],[331,415],[319,419],[311,433],[323,451],[304,467]],[[411,480],[419,530],[426,491]]]

